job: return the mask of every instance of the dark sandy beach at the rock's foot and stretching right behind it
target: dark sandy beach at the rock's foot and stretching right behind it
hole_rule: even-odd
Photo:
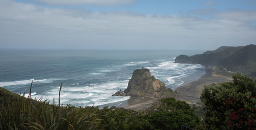
[[[197,81],[193,81],[186,85],[180,86],[176,89],[178,95],[175,97],[176,100],[182,100],[186,102],[200,102],[200,96],[204,89],[204,86],[223,83],[227,81],[231,81],[230,76],[220,75],[217,72],[220,71],[216,67],[206,66],[205,67],[205,75],[200,77]],[[153,98],[143,98],[143,97],[131,97],[126,102],[122,102],[122,105],[118,107],[122,107],[125,109],[132,110],[142,110],[147,105],[157,101],[158,99]]]

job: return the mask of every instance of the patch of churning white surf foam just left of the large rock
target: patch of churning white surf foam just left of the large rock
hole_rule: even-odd
[[[112,94],[118,90],[126,89],[129,80],[106,82],[101,84],[91,84],[90,86],[84,87],[63,87],[61,91],[61,102],[63,103],[73,103],[77,106],[98,106],[106,103],[117,102],[129,99],[130,97],[112,97]],[[43,99],[49,99],[53,102],[53,97],[55,97],[55,103],[58,101],[58,91],[59,87],[45,92],[47,95]],[[34,95],[34,98],[40,98],[40,95]],[[67,100],[67,101],[66,101]]]

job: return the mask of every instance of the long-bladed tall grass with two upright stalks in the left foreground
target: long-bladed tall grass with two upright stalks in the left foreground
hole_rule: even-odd
[[[7,106],[0,107],[0,129],[103,129],[99,109],[94,107],[77,108],[60,106],[59,89],[58,106],[51,105],[48,100],[31,99],[29,96],[16,95],[14,100],[8,99]]]

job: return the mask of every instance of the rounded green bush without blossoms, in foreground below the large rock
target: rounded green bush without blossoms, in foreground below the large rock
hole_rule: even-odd
[[[185,101],[163,98],[144,109],[144,118],[152,129],[179,129],[181,125],[195,127],[199,122],[194,110]]]

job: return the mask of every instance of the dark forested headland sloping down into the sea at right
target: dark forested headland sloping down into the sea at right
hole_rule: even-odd
[[[175,63],[191,63],[218,66],[225,70],[244,73],[256,77],[256,45],[247,46],[221,46],[216,50],[206,51],[200,55],[180,55]]]

